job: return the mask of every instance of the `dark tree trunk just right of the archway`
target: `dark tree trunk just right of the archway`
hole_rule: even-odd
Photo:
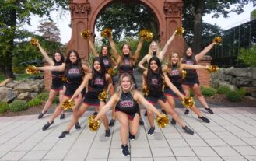
[[[193,52],[195,54],[198,54],[201,51],[202,44],[202,12],[204,9],[204,1],[195,1],[193,5],[195,7],[193,13],[193,16],[195,18]]]

